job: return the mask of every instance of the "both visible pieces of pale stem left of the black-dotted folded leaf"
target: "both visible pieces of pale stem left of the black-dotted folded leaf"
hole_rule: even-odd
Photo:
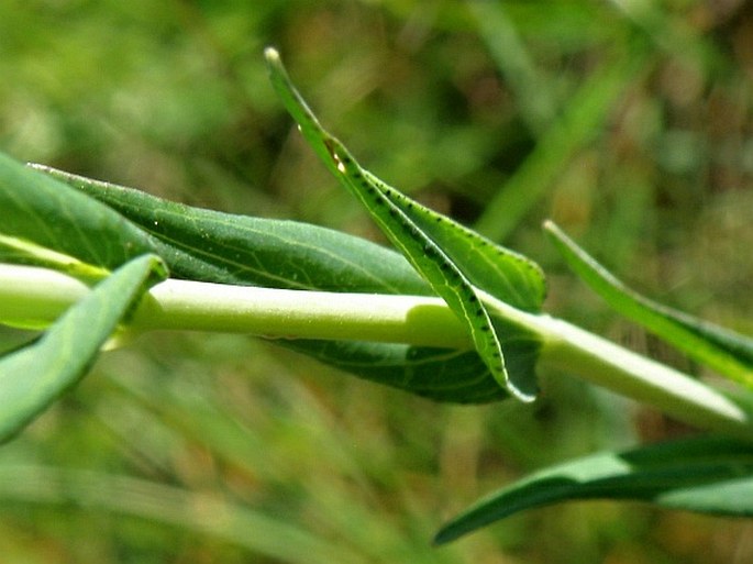
[[[0,321],[43,327],[88,286],[46,268],[0,264]],[[473,346],[441,298],[341,294],[168,279],[154,286],[130,320],[132,331],[250,333],[268,339],[381,341]]]

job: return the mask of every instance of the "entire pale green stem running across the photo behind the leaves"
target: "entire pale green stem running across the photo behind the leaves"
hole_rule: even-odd
[[[51,323],[87,291],[85,284],[54,270],[0,264],[0,321]],[[713,388],[560,319],[520,311],[488,295],[484,300],[495,314],[541,341],[540,364],[652,405],[699,428],[753,436],[750,414]],[[463,324],[440,298],[174,279],[150,290],[130,329],[472,346]]]

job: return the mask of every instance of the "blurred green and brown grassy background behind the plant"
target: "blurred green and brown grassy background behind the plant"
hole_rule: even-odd
[[[753,332],[741,0],[3,0],[0,150],[379,240],[275,99],[268,44],[373,172],[539,261],[553,313],[699,371],[566,273],[544,218],[651,296]],[[602,501],[431,548],[532,469],[685,432],[541,376],[533,406],[452,407],[252,339],[148,335],[0,450],[0,561],[751,562],[751,523]]]

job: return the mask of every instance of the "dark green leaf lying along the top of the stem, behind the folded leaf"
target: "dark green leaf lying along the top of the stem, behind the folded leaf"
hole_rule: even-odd
[[[191,208],[141,190],[33,165],[101,201],[141,230],[190,280],[298,290],[430,296],[397,253],[334,230]]]

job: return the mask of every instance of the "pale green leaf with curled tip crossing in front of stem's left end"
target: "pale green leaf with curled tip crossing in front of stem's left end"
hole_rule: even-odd
[[[86,374],[147,288],[167,273],[155,255],[126,263],[32,344],[0,358],[0,442],[19,433]]]

